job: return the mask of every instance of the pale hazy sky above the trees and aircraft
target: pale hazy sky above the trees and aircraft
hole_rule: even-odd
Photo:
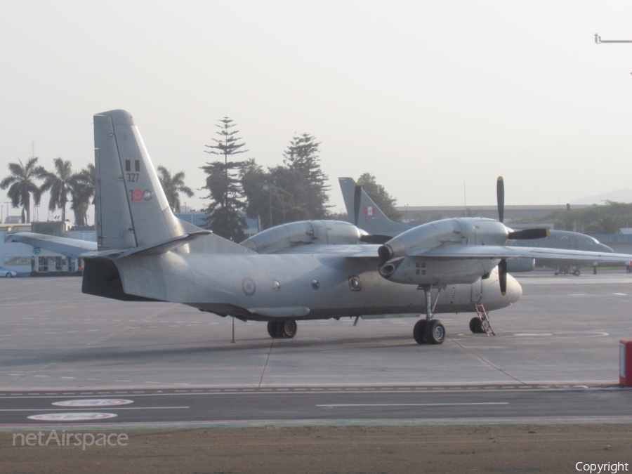
[[[629,1],[1,6],[0,178],[32,142],[86,166],[93,114],[122,108],[194,188],[226,115],[264,166],[316,136],[336,209],[336,178],[365,171],[411,206],[463,204],[463,183],[494,204],[499,175],[507,204],[632,187],[632,44],[593,36],[632,39]]]

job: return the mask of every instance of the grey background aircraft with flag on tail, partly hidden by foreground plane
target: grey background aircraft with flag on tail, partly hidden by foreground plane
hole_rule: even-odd
[[[348,220],[358,228],[369,232],[374,241],[384,241],[390,237],[400,235],[402,232],[410,230],[411,227],[404,223],[390,220],[383,211],[376,206],[375,202],[362,189],[361,183],[356,183],[353,178],[338,178],[340,189],[345,201]],[[508,244],[518,246],[518,242]],[[520,241],[523,247],[547,247],[550,249],[585,250],[600,253],[612,254],[609,246],[602,244],[595,237],[571,232],[569,230],[550,230],[548,235],[539,239],[523,239]],[[628,256],[628,260],[630,256]],[[582,265],[591,265],[592,262],[586,260],[571,260],[564,258],[555,260],[552,258],[512,258],[507,261],[507,271],[530,272],[535,268],[555,268],[555,275],[560,273],[570,273],[579,277]],[[574,267],[573,270],[569,270]]]

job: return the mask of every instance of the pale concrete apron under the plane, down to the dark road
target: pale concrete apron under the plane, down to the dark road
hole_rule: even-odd
[[[0,389],[612,384],[619,339],[632,338],[632,275],[518,274],[523,296],[490,313],[437,315],[442,345],[418,345],[415,320],[298,323],[272,340],[265,323],[173,303],[81,294],[78,277],[0,281]]]

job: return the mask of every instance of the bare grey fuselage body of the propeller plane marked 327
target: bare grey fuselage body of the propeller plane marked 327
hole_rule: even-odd
[[[176,254],[129,256],[116,261],[126,294],[173,301],[244,320],[426,313],[422,291],[381,277],[376,261],[320,254]],[[440,291],[435,312],[487,310],[518,301],[510,279],[501,296],[495,273],[474,284]],[[436,296],[439,288],[433,289]],[[435,298],[433,298],[435,300]]]

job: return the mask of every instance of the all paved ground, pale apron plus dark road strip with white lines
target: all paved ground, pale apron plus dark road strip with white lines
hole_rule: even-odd
[[[418,345],[414,318],[299,322],[275,340],[235,320],[233,343],[230,317],[84,295],[78,277],[1,279],[0,426],[111,399],[133,404],[97,403],[120,423],[632,421],[618,387],[632,275],[518,280],[495,336],[472,334],[472,313],[437,315],[445,343]]]

